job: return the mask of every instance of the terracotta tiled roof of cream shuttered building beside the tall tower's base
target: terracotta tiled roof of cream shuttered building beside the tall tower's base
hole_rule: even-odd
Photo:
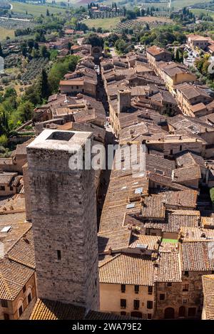
[[[99,269],[100,283],[153,286],[154,266],[150,256],[118,254]]]

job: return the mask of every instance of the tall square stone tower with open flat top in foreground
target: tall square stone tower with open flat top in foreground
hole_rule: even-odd
[[[27,147],[38,297],[97,310],[94,171],[68,167],[91,132],[44,130]]]

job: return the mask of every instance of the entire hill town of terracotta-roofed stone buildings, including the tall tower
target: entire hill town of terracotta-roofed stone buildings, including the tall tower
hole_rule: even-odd
[[[213,319],[213,96],[156,46],[82,51],[34,110],[35,138],[0,158],[14,194],[0,206],[0,318]],[[105,145],[103,105],[121,154],[97,221],[103,173],[68,161],[74,144]]]

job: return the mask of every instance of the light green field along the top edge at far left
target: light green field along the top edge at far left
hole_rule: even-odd
[[[41,14],[45,16],[47,9],[49,9],[50,14],[63,13],[66,11],[66,9],[63,9],[63,8],[60,9],[60,8],[54,8],[51,6],[24,4],[21,2],[12,2],[12,5],[13,5],[13,11],[16,13],[26,14],[26,11],[27,11],[28,14],[32,14],[34,16],[40,16]]]

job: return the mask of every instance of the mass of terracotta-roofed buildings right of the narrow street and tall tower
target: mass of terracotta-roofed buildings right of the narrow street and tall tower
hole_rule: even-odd
[[[214,277],[214,216],[204,196],[213,187],[213,95],[168,51],[146,53],[101,61],[122,163],[99,226],[101,310],[211,318],[213,296],[203,308],[203,294]],[[146,147],[144,172],[126,167],[123,145],[132,144]]]

